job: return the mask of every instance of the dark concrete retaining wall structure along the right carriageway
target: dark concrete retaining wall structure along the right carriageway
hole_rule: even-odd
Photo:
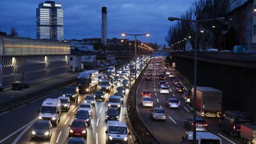
[[[194,83],[194,52],[171,52],[170,63]],[[256,54],[198,52],[197,85],[223,91],[223,112],[240,110],[256,122]]]

